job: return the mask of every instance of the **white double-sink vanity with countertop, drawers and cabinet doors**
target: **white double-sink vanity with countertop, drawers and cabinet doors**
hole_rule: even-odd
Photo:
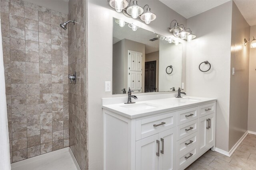
[[[102,99],[105,170],[183,170],[215,150],[216,99],[152,96]]]

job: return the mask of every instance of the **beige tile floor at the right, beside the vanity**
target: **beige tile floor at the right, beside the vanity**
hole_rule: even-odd
[[[208,150],[186,170],[256,170],[256,135],[248,134],[231,157]]]

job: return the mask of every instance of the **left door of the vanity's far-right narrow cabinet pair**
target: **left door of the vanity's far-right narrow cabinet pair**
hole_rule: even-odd
[[[206,122],[206,119],[207,119],[207,116],[201,117],[199,119],[199,134],[198,134],[198,136],[199,136],[199,140],[198,140],[199,152],[198,153],[201,153],[207,147],[207,142],[206,142],[207,122]]]

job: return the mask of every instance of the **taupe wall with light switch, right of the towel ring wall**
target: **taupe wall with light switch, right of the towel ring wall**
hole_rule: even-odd
[[[250,44],[244,46],[243,40],[249,37],[250,25],[233,2],[228,150],[232,149],[247,131]],[[233,67],[236,70],[235,75],[232,75]]]

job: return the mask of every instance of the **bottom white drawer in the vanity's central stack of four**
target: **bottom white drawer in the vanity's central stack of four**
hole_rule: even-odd
[[[178,169],[186,168],[186,166],[194,162],[194,160],[196,159],[196,156],[197,156],[196,146],[192,147],[187,152],[182,152],[182,154],[178,156],[178,160],[177,160]]]

